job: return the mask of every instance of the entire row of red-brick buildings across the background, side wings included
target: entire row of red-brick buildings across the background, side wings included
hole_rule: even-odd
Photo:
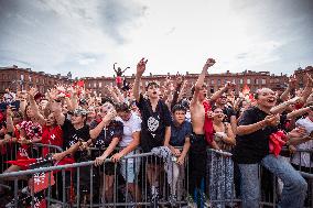
[[[306,81],[305,73],[313,74],[312,67],[306,67],[305,69],[295,70],[295,76],[300,84]],[[175,75],[148,75],[142,77],[142,87],[147,85],[148,81],[156,80],[160,85],[163,85],[170,77],[175,80]],[[184,75],[187,80],[187,89],[196,83],[198,74]],[[134,75],[125,77],[128,83],[133,83]],[[96,91],[97,94],[104,94],[106,91],[106,86],[115,85],[115,77],[84,77],[86,89],[90,91]],[[19,68],[18,66],[12,67],[0,67],[0,94],[3,94],[6,88],[11,90],[22,90],[30,89],[30,87],[36,87],[40,92],[45,92],[48,88],[56,84],[73,84],[72,74],[68,73],[67,76],[50,75],[43,72],[32,72],[30,68]],[[251,72],[245,70],[242,73],[230,73],[226,72],[223,74],[208,74],[206,75],[205,83],[208,86],[211,92],[218,90],[227,81],[233,81],[236,84],[235,91],[238,94],[244,86],[248,86],[251,91],[258,88],[269,87],[274,90],[283,90],[288,84],[287,75],[273,75],[269,72]],[[187,92],[188,94],[188,92]]]

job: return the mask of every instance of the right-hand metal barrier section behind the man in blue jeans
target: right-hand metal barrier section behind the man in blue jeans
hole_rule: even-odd
[[[298,149],[288,160],[306,179],[309,188],[304,207],[313,207],[313,150]],[[230,153],[207,151],[207,200],[211,207],[240,207],[240,173]],[[268,169],[259,167],[261,207],[277,207],[282,193],[282,182]]]

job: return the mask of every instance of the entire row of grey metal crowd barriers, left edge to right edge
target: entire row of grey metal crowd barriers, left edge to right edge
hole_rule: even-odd
[[[97,150],[93,151],[89,153],[90,158],[93,154],[98,155]],[[304,153],[312,153],[312,150],[299,150],[299,154]],[[98,167],[87,156],[87,161],[79,163],[0,174],[0,180],[14,178],[11,188],[13,200],[8,201],[7,207],[36,207],[41,200],[47,207],[240,207],[240,182],[230,153],[207,150],[206,185],[201,196],[204,202],[199,206],[191,199],[187,190],[192,171],[188,169],[188,160],[185,160],[183,166],[179,166],[174,162],[166,164],[166,160],[160,161],[153,155],[137,150],[119,163],[111,163],[107,158]],[[293,157],[294,155],[291,156],[291,163]],[[151,175],[147,173],[148,168],[152,169]],[[305,207],[312,207],[313,174],[303,171],[307,169],[302,166],[301,174],[311,187]],[[20,186],[20,177],[29,179],[29,188]],[[44,178],[48,186],[43,190],[35,190],[35,184],[43,184]],[[158,180],[159,185],[156,201],[152,200],[151,178]],[[260,206],[276,207],[281,194],[279,179],[262,167],[259,169],[259,179]]]

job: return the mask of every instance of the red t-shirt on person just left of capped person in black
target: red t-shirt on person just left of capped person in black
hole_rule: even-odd
[[[42,128],[42,143],[43,144],[51,144],[62,147],[63,146],[63,131],[60,125],[56,125],[55,128],[50,128],[44,125]],[[48,147],[42,149],[42,156],[46,156],[46,154],[50,153]]]

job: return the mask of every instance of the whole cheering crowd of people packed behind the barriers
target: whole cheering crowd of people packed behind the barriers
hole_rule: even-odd
[[[46,94],[40,94],[36,88],[17,94],[8,89],[1,103],[1,158],[6,158],[12,144],[18,145],[15,160],[45,157],[51,154],[48,149],[43,147],[42,152],[32,150],[33,143],[43,143],[64,150],[52,154],[56,162],[71,156],[76,162],[94,161],[95,168],[105,164],[104,172],[99,168],[105,182],[98,184],[100,191],[95,194],[104,196],[106,201],[114,200],[115,163],[119,163],[120,175],[139,201],[141,191],[136,177],[140,160],[126,161],[123,157],[137,154],[140,147],[143,153],[155,153],[145,158],[145,174],[150,199],[158,202],[162,168],[171,169],[168,174],[172,172],[174,175],[169,177],[174,184],[171,200],[182,197],[179,180],[186,175],[186,191],[193,195],[201,188],[207,166],[218,160],[207,157],[209,147],[233,154],[233,160],[228,160],[222,169],[227,173],[225,193],[230,191],[234,174],[235,178],[237,175],[240,185],[237,184],[236,191],[240,195],[241,207],[259,207],[259,165],[281,179],[281,207],[303,207],[307,183],[296,168],[311,173],[311,157],[309,153],[300,155],[296,149],[312,147],[313,79],[307,75],[306,86],[301,89],[291,76],[281,95],[269,88],[235,95],[234,83],[226,83],[225,87],[209,95],[205,77],[214,64],[213,58],[206,61],[191,89],[191,97],[184,96],[190,89],[181,75],[176,80],[168,79],[162,86],[150,81],[142,89],[141,77],[148,65],[145,58],[137,65],[134,83],[125,88],[119,78],[117,86],[107,86],[109,95],[99,96],[84,87],[62,85]],[[285,158],[290,154],[282,155],[284,146],[294,155],[291,161]],[[85,152],[90,149],[98,151],[86,158]],[[164,164],[164,157],[171,158],[171,167]],[[107,158],[110,162],[106,162]],[[20,169],[19,165],[11,165],[1,172]],[[89,169],[82,169],[82,177],[84,173],[88,175]],[[80,185],[88,186],[88,179],[82,179]],[[4,190],[0,189],[0,194],[2,196]]]

